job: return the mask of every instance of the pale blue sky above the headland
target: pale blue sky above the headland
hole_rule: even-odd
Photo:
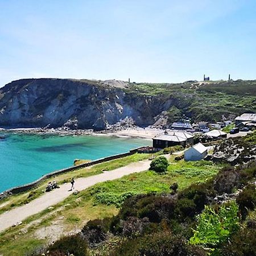
[[[0,86],[256,79],[255,0],[0,0]]]

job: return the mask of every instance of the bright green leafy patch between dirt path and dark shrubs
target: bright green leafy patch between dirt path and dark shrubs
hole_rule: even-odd
[[[204,182],[216,175],[218,168],[207,161],[182,160],[170,164],[166,174],[157,174],[154,171],[140,172],[94,185],[89,189],[89,193],[93,197],[94,204],[113,204],[120,207],[129,196],[169,192],[170,185],[174,182],[179,184],[179,189],[186,188],[192,183]]]

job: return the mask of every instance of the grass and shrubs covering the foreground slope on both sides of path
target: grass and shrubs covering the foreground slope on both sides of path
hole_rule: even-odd
[[[255,133],[226,141],[255,145]],[[166,159],[164,153],[154,160]],[[175,160],[180,154],[168,157],[164,172],[148,170],[98,183],[5,230],[0,254],[254,256],[255,162],[232,167]],[[61,175],[59,182],[149,157],[135,154],[98,164]]]

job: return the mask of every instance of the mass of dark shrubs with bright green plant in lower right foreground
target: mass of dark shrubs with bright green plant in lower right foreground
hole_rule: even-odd
[[[253,256],[256,190],[251,181],[255,175],[256,164],[251,162],[238,169],[223,167],[207,181],[188,185],[177,194],[128,197],[116,216],[90,221],[82,228],[80,237],[88,242],[82,255]],[[220,180],[221,187],[216,187]],[[232,193],[218,201],[230,184]],[[242,192],[234,192],[241,188]],[[63,248],[57,252],[61,255]]]

